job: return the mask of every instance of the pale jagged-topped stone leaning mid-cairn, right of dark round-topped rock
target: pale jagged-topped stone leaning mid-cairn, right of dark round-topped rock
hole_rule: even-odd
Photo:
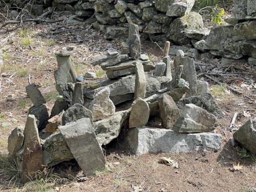
[[[110,100],[110,88],[103,88],[96,93],[89,109],[92,111],[95,121],[114,115],[116,108],[112,100]]]

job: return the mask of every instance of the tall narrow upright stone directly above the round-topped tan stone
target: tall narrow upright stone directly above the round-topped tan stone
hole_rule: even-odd
[[[134,99],[137,98],[145,98],[146,94],[146,76],[144,73],[142,62],[137,60],[136,61],[136,77],[135,77],[135,92],[134,92]]]

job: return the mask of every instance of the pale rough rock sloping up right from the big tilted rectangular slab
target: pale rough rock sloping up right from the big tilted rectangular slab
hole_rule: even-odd
[[[127,117],[129,111],[120,111],[109,118],[95,122],[94,132],[99,144],[106,145],[117,138]]]

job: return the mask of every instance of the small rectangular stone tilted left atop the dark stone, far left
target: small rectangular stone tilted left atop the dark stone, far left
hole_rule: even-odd
[[[46,103],[45,98],[42,96],[41,92],[38,90],[34,83],[26,86],[26,92],[35,106]]]

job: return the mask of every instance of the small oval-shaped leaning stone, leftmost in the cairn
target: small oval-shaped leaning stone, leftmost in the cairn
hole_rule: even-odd
[[[22,130],[17,127],[12,130],[12,133],[8,137],[8,152],[10,155],[16,154],[22,148],[23,139]]]

